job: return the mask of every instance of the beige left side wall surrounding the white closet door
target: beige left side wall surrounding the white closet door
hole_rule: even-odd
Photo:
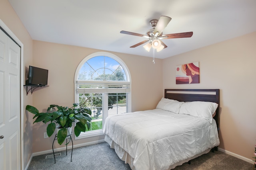
[[[22,42],[24,45],[24,53],[23,53],[23,62],[24,65],[21,66],[21,69],[25,72],[26,65],[32,64],[32,39],[30,35],[28,34],[28,31],[14,12],[12,6],[8,2],[8,0],[1,0],[0,1],[0,19],[5,23],[5,25],[18,37],[18,39]],[[24,80],[25,83],[25,80]],[[26,96],[25,88],[23,90],[23,106],[24,109],[27,104],[32,104],[32,96]],[[29,159],[32,155],[32,115],[29,115],[24,111],[23,115],[23,123],[24,127],[23,131],[23,140],[24,140],[24,167],[29,162]]]

